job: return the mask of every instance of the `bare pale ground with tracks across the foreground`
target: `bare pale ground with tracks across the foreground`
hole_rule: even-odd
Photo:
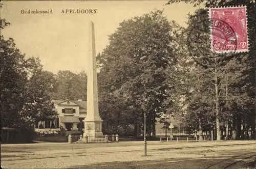
[[[233,146],[224,146],[230,145]],[[250,144],[240,145],[239,144]],[[198,148],[191,148],[197,147]],[[215,146],[215,147],[205,147]],[[185,149],[179,149],[179,148]],[[200,148],[199,148],[200,147]],[[255,141],[1,145],[4,168],[253,168]],[[178,149],[177,149],[178,148]],[[235,157],[234,157],[235,156]],[[252,156],[251,158],[246,158]],[[232,158],[233,157],[233,158]],[[239,161],[239,162],[237,162]]]

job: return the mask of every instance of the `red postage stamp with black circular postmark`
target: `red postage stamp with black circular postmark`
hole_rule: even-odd
[[[210,8],[209,19],[212,51],[248,51],[246,7]]]

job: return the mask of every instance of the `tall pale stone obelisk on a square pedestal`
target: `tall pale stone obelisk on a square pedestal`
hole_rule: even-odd
[[[98,86],[96,70],[96,51],[94,23],[90,21],[89,52],[87,60],[87,116],[84,119],[84,136],[103,136],[102,120],[99,117]]]

